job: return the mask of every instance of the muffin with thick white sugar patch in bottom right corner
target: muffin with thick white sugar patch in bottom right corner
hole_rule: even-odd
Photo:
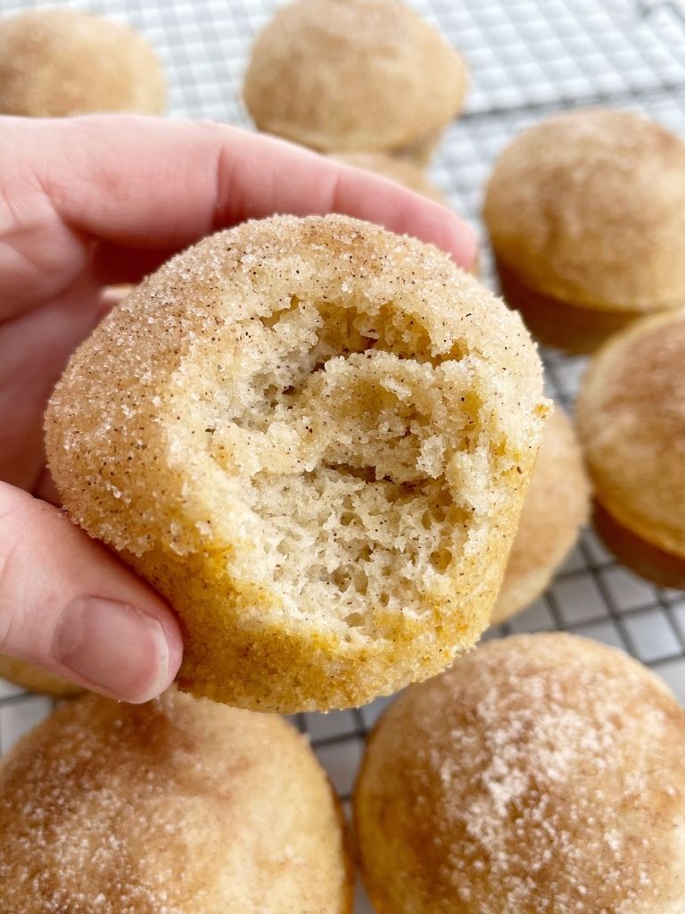
[[[680,914],[685,712],[614,648],[493,641],[385,712],[354,822],[376,914]]]

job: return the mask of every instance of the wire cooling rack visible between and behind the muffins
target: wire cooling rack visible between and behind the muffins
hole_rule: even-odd
[[[478,227],[483,185],[511,137],[561,108],[635,108],[685,133],[685,3],[682,0],[408,0],[467,58],[469,104],[437,154],[433,178]],[[0,0],[2,13],[37,6]],[[174,117],[248,125],[240,86],[251,40],[276,0],[94,0],[90,8],[129,22],[153,43],[170,84]],[[485,275],[491,279],[487,252]],[[550,394],[573,405],[582,358],[544,354]],[[618,566],[585,532],[543,598],[509,632],[564,630],[615,644],[662,675],[685,701],[685,595],[659,590]],[[360,710],[306,714],[295,723],[345,801],[364,736],[387,699]],[[51,702],[0,680],[0,748],[44,717]],[[367,911],[360,899],[358,911]]]

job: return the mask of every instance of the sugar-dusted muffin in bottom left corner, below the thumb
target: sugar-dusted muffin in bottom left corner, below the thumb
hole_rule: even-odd
[[[77,698],[0,760],[3,914],[351,914],[342,815],[275,715]]]

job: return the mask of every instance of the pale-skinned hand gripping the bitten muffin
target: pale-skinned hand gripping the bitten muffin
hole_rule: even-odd
[[[246,218],[332,211],[473,261],[447,209],[288,143],[214,123],[0,118],[0,654],[132,702],[173,681],[174,613],[59,510],[47,398],[105,284]]]

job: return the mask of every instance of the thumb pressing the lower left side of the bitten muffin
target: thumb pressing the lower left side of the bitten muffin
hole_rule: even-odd
[[[148,701],[181,663],[174,614],[52,505],[0,483],[0,654]]]

